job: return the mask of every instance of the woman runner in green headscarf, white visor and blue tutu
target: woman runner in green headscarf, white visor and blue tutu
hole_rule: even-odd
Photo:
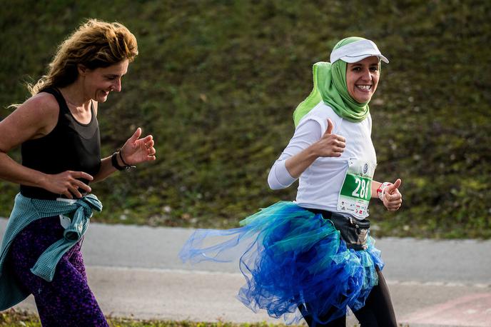
[[[315,64],[313,91],[293,114],[295,134],[268,176],[273,189],[299,178],[296,201],[275,203],[241,228],[198,230],[181,258],[221,261],[227,250],[246,243],[241,271],[247,284],[238,298],[254,311],[333,327],[345,326],[349,307],[361,326],[397,326],[367,219],[372,197],[390,211],[402,204],[400,179],[373,181],[368,102],[380,61],[388,63],[372,41],[350,37],[336,44],[330,63]],[[233,238],[203,248],[209,236]]]

